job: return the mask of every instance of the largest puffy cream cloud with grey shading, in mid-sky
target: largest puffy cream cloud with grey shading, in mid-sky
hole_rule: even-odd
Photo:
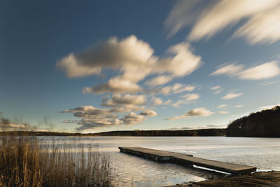
[[[108,82],[83,89],[84,94],[105,92],[143,92],[138,84],[148,75],[157,77],[146,81],[148,85],[162,85],[175,77],[188,76],[202,64],[200,56],[194,55],[190,44],[178,43],[167,50],[167,57],[153,55],[154,50],[137,36],[119,40],[112,37],[80,53],[70,53],[58,60],[57,67],[69,78],[101,74],[105,69],[118,71]]]

